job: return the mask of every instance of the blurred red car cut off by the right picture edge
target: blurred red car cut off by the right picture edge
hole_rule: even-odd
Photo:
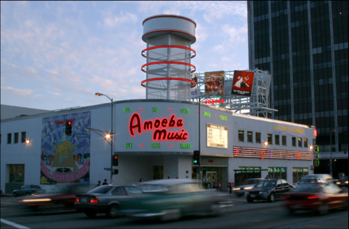
[[[327,214],[334,208],[348,210],[348,193],[334,183],[302,183],[283,197],[287,198],[285,207],[290,214],[297,210],[317,211],[318,214]]]

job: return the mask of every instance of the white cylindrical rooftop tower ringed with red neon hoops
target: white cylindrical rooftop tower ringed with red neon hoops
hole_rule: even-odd
[[[143,21],[142,39],[147,48],[142,66],[147,76],[141,85],[147,99],[174,99],[190,101],[190,88],[196,85],[191,73],[196,70],[191,59],[196,55],[191,45],[197,24],[178,15],[155,15]]]

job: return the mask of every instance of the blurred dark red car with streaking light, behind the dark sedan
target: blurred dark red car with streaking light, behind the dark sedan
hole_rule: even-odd
[[[90,190],[88,185],[59,184],[46,194],[31,195],[20,202],[30,209],[74,209],[76,193],[85,193],[87,190]]]

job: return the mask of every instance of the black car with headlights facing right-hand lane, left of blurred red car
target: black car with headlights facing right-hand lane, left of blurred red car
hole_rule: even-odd
[[[265,179],[252,189],[247,190],[244,197],[249,203],[252,203],[254,200],[274,202],[276,198],[294,190],[294,188],[296,187],[284,179]]]

